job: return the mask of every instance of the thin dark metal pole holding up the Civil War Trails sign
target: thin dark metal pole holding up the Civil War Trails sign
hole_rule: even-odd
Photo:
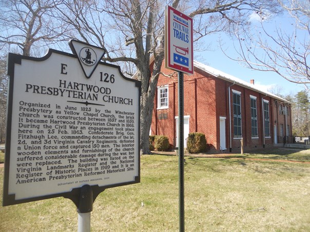
[[[184,89],[183,72],[179,72],[179,231],[184,232]]]

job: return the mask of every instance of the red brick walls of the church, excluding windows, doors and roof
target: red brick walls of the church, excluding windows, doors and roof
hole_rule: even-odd
[[[173,73],[162,66],[165,74]],[[151,134],[166,135],[170,144],[176,144],[176,119],[178,116],[178,77],[175,74],[168,78],[159,76],[158,86],[168,85],[168,109],[157,110],[157,90],[154,99],[154,109],[152,116]],[[240,138],[234,139],[234,115],[233,115],[233,92],[241,92],[241,112],[242,112],[242,137],[245,149],[255,147],[270,146],[274,143],[274,125],[277,126],[279,135],[279,123],[284,123],[284,115],[279,115],[279,110],[275,99],[265,94],[250,90],[231,82],[214,77],[202,70],[195,69],[193,75],[184,74],[184,115],[189,115],[189,133],[200,132],[206,136],[207,143],[210,144],[210,152],[220,150],[220,117],[226,117],[226,148],[229,150],[229,101],[228,88],[230,86],[231,104],[231,148],[234,152],[240,152]],[[250,95],[256,97],[258,138],[251,137],[251,113]],[[262,98],[269,101],[269,128],[270,137],[263,137],[263,116]],[[279,102],[279,100],[277,100]],[[163,117],[165,115],[165,117]],[[160,119],[162,118],[162,119]],[[164,118],[164,119],[163,119]],[[275,122],[277,121],[277,123]],[[285,123],[284,123],[285,124]],[[290,123],[290,114],[287,116],[287,124]],[[290,135],[292,134],[292,127]],[[286,128],[284,129],[286,130]]]

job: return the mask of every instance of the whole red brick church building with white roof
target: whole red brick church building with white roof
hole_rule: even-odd
[[[164,74],[173,73],[162,67]],[[160,75],[151,135],[178,144],[178,77]],[[290,102],[237,77],[194,61],[184,74],[184,146],[188,133],[205,134],[210,152],[273,146],[292,135]]]

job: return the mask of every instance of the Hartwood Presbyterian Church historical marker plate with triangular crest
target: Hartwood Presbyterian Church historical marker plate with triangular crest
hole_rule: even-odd
[[[4,205],[140,182],[140,82],[103,49],[70,47],[8,56]]]

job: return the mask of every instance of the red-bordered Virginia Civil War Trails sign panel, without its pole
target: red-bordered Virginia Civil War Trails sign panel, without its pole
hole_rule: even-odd
[[[193,74],[192,18],[167,6],[165,17],[165,66]]]

